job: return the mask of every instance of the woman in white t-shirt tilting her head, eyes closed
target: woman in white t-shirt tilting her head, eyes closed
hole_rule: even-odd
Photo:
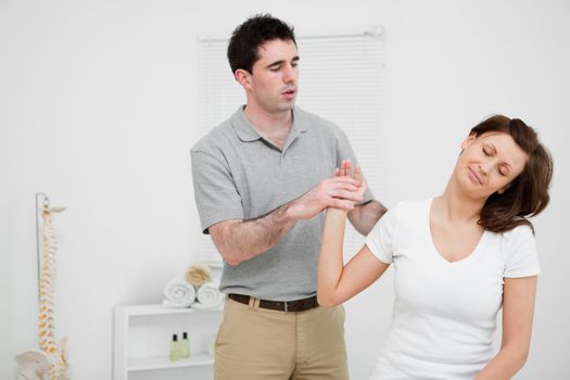
[[[350,173],[343,162],[335,175]],[[329,208],[318,264],[320,305],[351,299],[394,265],[392,324],[371,379],[497,380],[522,367],[540,273],[528,217],[548,204],[552,173],[536,132],[497,115],[461,143],[442,195],[391,208],[345,266],[346,212]],[[358,191],[365,187],[363,180]],[[501,307],[502,345],[494,354]]]

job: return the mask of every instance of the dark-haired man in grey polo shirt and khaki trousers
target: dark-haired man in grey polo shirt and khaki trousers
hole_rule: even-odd
[[[228,60],[246,104],[191,150],[202,228],[225,261],[216,379],[347,379],[344,309],[315,295],[322,211],[349,210],[366,235],[385,208],[350,176],[331,178],[354,153],[335,125],[294,106],[290,26],[246,20]]]

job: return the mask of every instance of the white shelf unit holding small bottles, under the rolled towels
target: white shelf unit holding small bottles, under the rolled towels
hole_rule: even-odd
[[[163,305],[116,306],[114,311],[114,380],[213,379],[210,341],[223,308],[194,311]],[[190,358],[170,360],[173,334],[188,333]]]

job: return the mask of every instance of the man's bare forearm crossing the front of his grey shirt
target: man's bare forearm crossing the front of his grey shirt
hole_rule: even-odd
[[[230,265],[238,265],[269,249],[286,236],[295,224],[288,215],[289,203],[256,219],[220,226],[214,243]]]

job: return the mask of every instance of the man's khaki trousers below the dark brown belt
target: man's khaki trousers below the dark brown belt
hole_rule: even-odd
[[[347,380],[344,308],[286,313],[226,300],[216,380]]]

